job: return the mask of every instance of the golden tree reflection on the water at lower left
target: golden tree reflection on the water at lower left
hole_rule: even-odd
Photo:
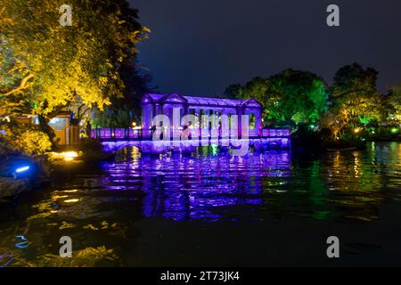
[[[103,181],[84,182],[87,179],[82,177],[77,180],[71,181],[70,185],[80,183],[80,188],[51,192],[48,199],[33,206],[33,214],[31,210],[29,216],[20,213],[23,214],[20,223],[23,226],[15,226],[17,222],[13,221],[13,228],[2,233],[6,239],[2,240],[0,248],[12,255],[11,265],[119,265],[119,250],[127,235],[131,245],[139,236],[131,224],[140,216],[135,214],[139,208],[137,199],[133,200],[135,203],[131,203],[131,207],[119,208],[115,192],[97,188]],[[15,235],[20,232],[29,239],[27,248],[13,246]],[[70,260],[58,256],[59,240],[65,235],[73,240],[73,258],[66,258]]]

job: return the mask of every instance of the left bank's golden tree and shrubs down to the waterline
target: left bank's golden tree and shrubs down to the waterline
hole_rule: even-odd
[[[0,197],[8,196],[6,189],[25,191],[30,180],[48,175],[49,166],[75,165],[67,159],[76,158],[54,159],[52,153],[82,151],[82,161],[107,159],[100,143],[87,138],[91,120],[102,126],[140,116],[139,98],[151,78],[136,64],[136,45],[150,29],[126,0],[71,0],[71,26],[59,21],[63,4],[4,0],[0,7]],[[131,104],[120,108],[126,102]],[[64,150],[66,142],[59,143],[49,126],[66,111],[74,114],[66,118],[70,130],[86,131],[85,143],[74,150]],[[26,168],[34,179],[12,181],[15,169],[9,168],[18,159],[37,166]]]

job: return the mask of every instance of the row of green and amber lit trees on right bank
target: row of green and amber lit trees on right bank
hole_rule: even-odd
[[[377,76],[377,70],[353,63],[341,67],[328,85],[311,72],[286,69],[272,77],[255,77],[246,85],[229,85],[225,94],[256,98],[265,106],[264,126],[289,126],[299,133],[295,138],[318,134],[319,140],[331,145],[399,140],[401,85],[381,94]]]

